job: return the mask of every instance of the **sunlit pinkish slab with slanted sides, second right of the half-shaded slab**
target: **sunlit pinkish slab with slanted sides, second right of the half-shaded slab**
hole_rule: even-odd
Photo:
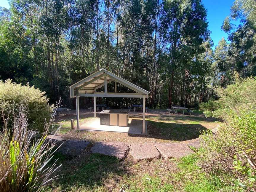
[[[180,158],[194,153],[188,145],[184,143],[156,143],[155,146],[164,159],[173,157]]]

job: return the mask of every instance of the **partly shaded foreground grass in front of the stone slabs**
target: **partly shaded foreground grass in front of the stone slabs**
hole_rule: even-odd
[[[45,191],[218,191],[221,181],[197,166],[198,156],[134,162],[100,154],[82,153],[70,159],[57,153],[62,178]]]

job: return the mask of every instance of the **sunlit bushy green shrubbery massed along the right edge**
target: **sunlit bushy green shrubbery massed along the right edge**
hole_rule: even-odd
[[[216,88],[223,119],[217,135],[204,135],[202,167],[230,184],[231,191],[256,190],[256,78],[235,77],[226,89]]]

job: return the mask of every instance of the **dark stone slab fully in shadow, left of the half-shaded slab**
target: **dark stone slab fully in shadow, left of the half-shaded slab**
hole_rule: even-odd
[[[66,140],[63,145],[60,146],[58,151],[65,155],[77,156],[79,155],[90,142],[81,140]]]

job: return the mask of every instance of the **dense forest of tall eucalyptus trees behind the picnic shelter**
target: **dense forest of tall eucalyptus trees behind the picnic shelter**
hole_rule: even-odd
[[[150,108],[196,107],[217,99],[212,87],[226,87],[235,71],[256,75],[255,1],[243,2],[223,21],[230,43],[213,49],[201,0],[11,0],[0,9],[0,79],[29,82],[72,107],[68,87],[105,68],[150,91]]]

